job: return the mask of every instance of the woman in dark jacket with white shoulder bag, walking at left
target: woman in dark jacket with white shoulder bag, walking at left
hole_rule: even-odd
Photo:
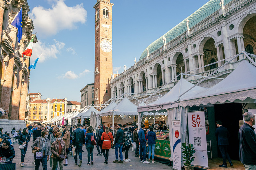
[[[21,152],[20,166],[24,166],[24,158],[28,149],[28,142],[30,141],[30,137],[28,134],[28,128],[24,128],[22,134],[19,137],[19,148]]]

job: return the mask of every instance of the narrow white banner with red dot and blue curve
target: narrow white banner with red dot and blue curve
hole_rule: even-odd
[[[180,121],[172,121],[172,169],[181,170]]]

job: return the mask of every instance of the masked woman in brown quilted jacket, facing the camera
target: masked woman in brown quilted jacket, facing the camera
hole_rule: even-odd
[[[57,138],[57,140],[52,143],[51,147],[51,158],[53,160],[52,170],[56,169],[56,165],[58,164],[58,162],[60,165],[60,170],[63,170],[63,160],[67,157],[66,145],[65,142],[61,140],[62,134],[60,132],[57,132],[55,134],[55,137]]]

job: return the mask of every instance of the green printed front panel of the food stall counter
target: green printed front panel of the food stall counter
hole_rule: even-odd
[[[156,139],[155,155],[171,157],[171,144],[167,140]]]

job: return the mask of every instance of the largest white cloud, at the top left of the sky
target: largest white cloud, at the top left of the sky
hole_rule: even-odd
[[[35,7],[29,15],[33,19],[38,34],[44,37],[55,35],[60,30],[76,29],[76,23],[84,24],[86,22],[87,11],[84,9],[83,3],[69,7],[64,0],[48,0],[48,2],[56,3],[48,9],[42,6]]]

